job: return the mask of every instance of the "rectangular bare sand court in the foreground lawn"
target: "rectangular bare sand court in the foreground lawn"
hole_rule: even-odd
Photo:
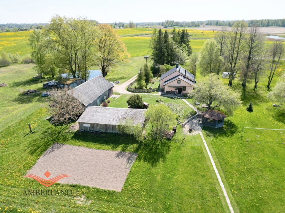
[[[136,153],[55,143],[27,173],[44,179],[68,174],[71,177],[57,182],[121,191],[136,157]],[[48,178],[46,171],[51,174]]]

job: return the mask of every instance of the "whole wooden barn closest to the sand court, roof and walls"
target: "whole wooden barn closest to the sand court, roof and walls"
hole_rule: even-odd
[[[118,125],[130,119],[134,125],[143,128],[146,109],[88,106],[77,120],[79,129],[84,131],[120,133]]]

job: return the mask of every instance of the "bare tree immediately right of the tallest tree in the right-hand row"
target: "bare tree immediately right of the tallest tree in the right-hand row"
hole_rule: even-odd
[[[254,58],[259,57],[262,54],[262,38],[259,34],[259,30],[256,26],[249,28],[246,42],[245,42],[245,68],[242,71],[243,74],[243,83],[241,84],[243,87],[246,86],[246,80],[250,70],[253,68],[254,65]]]

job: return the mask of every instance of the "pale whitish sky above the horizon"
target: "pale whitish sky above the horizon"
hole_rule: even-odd
[[[47,23],[54,14],[101,23],[278,19],[284,8],[284,0],[0,0],[0,23]]]

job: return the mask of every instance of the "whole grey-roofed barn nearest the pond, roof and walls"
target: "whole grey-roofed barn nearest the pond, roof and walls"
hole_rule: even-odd
[[[102,75],[97,75],[73,88],[72,95],[85,107],[99,106],[103,100],[113,95],[113,84]]]

